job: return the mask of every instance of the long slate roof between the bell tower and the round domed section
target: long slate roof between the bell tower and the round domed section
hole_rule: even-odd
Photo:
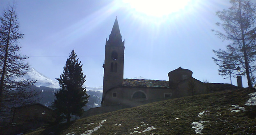
[[[123,79],[122,86],[169,88],[169,81],[145,80],[145,79]]]

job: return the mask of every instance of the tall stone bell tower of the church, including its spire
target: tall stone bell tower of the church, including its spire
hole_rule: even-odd
[[[116,18],[109,39],[106,39],[105,45],[103,98],[109,89],[115,86],[121,86],[123,82],[123,60],[124,40],[122,41]]]

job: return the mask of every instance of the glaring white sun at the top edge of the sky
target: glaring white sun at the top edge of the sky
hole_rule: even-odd
[[[131,9],[147,16],[163,17],[183,11],[192,0],[123,0]]]

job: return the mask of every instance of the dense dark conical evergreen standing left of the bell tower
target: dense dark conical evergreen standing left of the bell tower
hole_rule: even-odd
[[[56,100],[53,103],[56,114],[66,118],[66,122],[70,122],[71,115],[82,115],[82,107],[86,106],[89,97],[82,86],[86,75],[82,72],[81,62],[78,62],[76,56],[73,50],[69,54],[63,73],[57,78],[61,89],[55,93]]]

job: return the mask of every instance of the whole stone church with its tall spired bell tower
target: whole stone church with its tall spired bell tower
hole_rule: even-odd
[[[192,77],[192,71],[179,67],[167,75],[168,81],[123,79],[124,40],[117,18],[105,44],[102,107],[133,107],[149,102],[189,95],[233,89],[231,84],[203,83]]]

